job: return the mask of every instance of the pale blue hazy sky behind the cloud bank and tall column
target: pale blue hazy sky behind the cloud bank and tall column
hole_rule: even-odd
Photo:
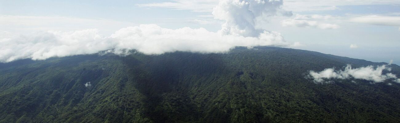
[[[0,31],[4,32],[0,38],[13,40],[9,35],[86,29],[97,29],[98,34],[106,38],[117,30],[140,24],[156,24],[173,30],[190,27],[218,32],[222,24],[230,21],[229,18],[216,19],[212,14],[219,2],[0,0]],[[256,16],[254,27],[278,32],[285,42],[300,43],[283,47],[373,62],[394,60],[400,64],[400,0],[284,0],[278,9],[291,11],[293,15]],[[3,54],[7,59],[12,56]]]

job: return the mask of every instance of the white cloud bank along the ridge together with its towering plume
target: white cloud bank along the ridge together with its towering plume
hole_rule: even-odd
[[[278,32],[254,28],[258,17],[291,14],[281,9],[282,4],[282,0],[220,0],[212,13],[226,23],[218,32],[188,27],[172,30],[152,24],[122,28],[111,36],[101,36],[97,29],[23,35],[4,32],[0,34],[0,62],[45,60],[106,50],[114,54],[126,54],[129,50],[144,54],[222,53],[236,46],[292,46]]]

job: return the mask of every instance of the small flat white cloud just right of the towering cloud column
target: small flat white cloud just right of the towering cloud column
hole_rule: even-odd
[[[282,21],[282,26],[296,26],[296,27],[312,27],[320,29],[337,29],[340,26],[337,24],[328,24],[321,21],[332,20],[333,17],[330,15],[296,15],[291,19]]]

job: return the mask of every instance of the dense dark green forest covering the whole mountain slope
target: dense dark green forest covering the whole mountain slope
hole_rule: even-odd
[[[400,121],[398,83],[305,77],[346,64],[384,63],[272,47],[0,63],[0,123]]]

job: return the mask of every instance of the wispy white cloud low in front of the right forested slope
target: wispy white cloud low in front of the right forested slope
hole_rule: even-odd
[[[393,73],[383,74],[383,71],[390,71],[390,67],[386,65],[381,66],[367,66],[360,68],[352,68],[351,65],[347,65],[344,70],[335,71],[334,68],[328,68],[320,72],[310,71],[309,77],[314,80],[314,83],[331,83],[330,79],[363,79],[372,81],[374,83],[384,82],[387,79],[393,79],[395,82],[399,82]]]

